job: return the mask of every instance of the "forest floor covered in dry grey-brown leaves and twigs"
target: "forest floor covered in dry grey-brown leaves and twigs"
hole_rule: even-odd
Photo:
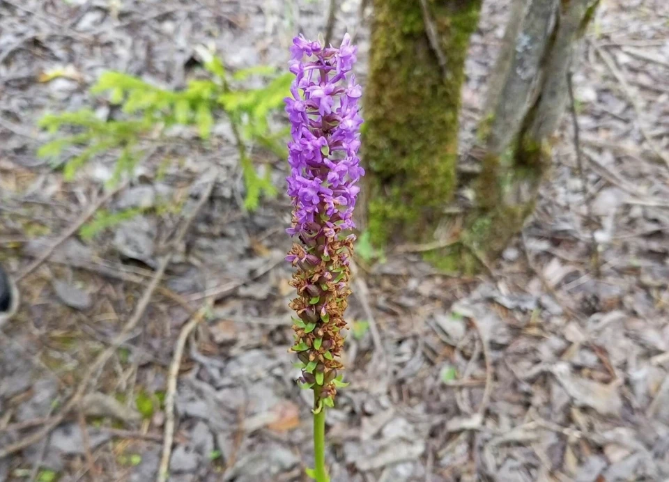
[[[107,109],[87,93],[103,70],[183,85],[200,44],[229,68],[282,67],[325,10],[0,0],[0,261],[25,272],[55,247],[1,327],[0,481],[154,480],[171,423],[171,481],[306,480],[286,196],[243,210],[224,120],[210,145],[155,146],[110,199],[111,159],[64,182],[35,155],[48,138],[36,122]],[[341,1],[334,38],[360,26],[364,87],[370,12],[358,10]],[[472,38],[463,160],[506,11],[485,2]],[[602,1],[574,75],[583,176],[564,116],[535,215],[489,274],[445,276],[411,252],[357,260],[351,385],[328,412],[332,482],[669,480],[668,39],[666,1]],[[286,162],[254,155],[281,191]],[[77,226],[97,205],[142,213],[84,242]]]

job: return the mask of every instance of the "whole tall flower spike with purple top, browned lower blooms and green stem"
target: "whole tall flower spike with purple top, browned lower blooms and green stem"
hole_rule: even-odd
[[[337,388],[346,384],[344,311],[351,293],[348,280],[355,235],[353,208],[364,175],[358,100],[362,89],[351,74],[357,48],[344,36],[339,48],[302,36],[293,39],[290,70],[295,75],[286,112],[291,120],[288,194],[293,219],[287,230],[294,243],[286,261],[294,267],[291,301],[302,387],[314,390],[316,467],[309,475],[328,481],[325,471],[325,407],[334,406]]]

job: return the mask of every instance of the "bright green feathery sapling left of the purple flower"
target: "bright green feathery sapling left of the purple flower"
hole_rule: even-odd
[[[57,159],[64,149],[79,148],[77,155],[63,165],[66,180],[71,180],[95,155],[116,153],[110,180],[114,185],[123,174],[132,174],[147,142],[160,142],[169,127],[197,127],[199,137],[206,142],[215,119],[227,116],[247,190],[245,207],[255,209],[261,196],[276,192],[270,170],[263,174],[256,171],[247,145],[256,143],[280,157],[287,155],[282,139],[289,130],[271,130],[270,117],[284,107],[292,76],[277,75],[275,69],[266,66],[229,73],[222,60],[208,50],[200,49],[199,54],[209,78],[192,80],[180,91],[160,88],[123,72],[105,72],[91,87],[91,93],[109,95],[109,101],[121,107],[121,116],[101,119],[91,109],[47,114],[40,120],[40,127],[58,136],[45,143],[38,155]],[[264,85],[249,88],[254,77],[263,79]]]

